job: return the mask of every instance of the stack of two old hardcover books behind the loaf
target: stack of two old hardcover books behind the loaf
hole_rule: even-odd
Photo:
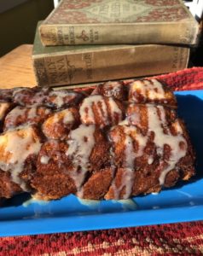
[[[39,22],[39,86],[90,84],[188,66],[199,25],[182,0],[61,0]]]

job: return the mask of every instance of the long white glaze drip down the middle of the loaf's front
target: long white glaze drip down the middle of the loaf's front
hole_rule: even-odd
[[[95,125],[80,125],[70,132],[70,139],[67,141],[68,149],[66,154],[73,160],[74,166],[70,176],[75,182],[79,197],[82,197],[81,186],[90,167],[90,154],[96,143],[95,130]]]

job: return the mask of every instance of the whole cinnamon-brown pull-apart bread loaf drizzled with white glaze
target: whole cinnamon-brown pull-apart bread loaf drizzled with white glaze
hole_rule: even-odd
[[[171,90],[156,79],[92,90],[0,90],[0,198],[119,200],[194,171]]]

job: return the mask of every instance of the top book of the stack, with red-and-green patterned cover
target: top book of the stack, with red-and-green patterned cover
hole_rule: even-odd
[[[44,45],[195,44],[182,0],[61,0],[39,31]]]

